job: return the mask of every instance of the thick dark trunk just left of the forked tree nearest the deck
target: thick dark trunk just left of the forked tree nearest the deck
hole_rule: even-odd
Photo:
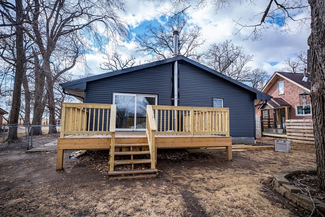
[[[44,96],[45,74],[40,70],[40,60],[37,53],[33,53],[35,64],[35,94],[34,94],[34,116],[31,125],[42,125],[43,110],[45,104],[42,102]],[[42,135],[42,127],[33,127],[33,135]]]

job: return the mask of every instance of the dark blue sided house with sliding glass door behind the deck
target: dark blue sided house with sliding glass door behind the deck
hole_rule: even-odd
[[[61,84],[83,103],[116,104],[116,130],[145,131],[146,105],[229,108],[233,144],[254,143],[254,100],[271,97],[176,56]]]

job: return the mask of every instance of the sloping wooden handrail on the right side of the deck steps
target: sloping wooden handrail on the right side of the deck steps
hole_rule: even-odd
[[[150,160],[151,169],[155,168],[156,165],[156,149],[155,149],[155,131],[157,130],[154,113],[151,105],[147,105],[147,119],[146,119],[146,134],[148,138],[149,150],[150,150]]]

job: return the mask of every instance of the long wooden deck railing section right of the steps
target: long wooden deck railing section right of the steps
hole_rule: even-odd
[[[154,111],[155,134],[230,136],[229,108],[156,105],[147,108]]]

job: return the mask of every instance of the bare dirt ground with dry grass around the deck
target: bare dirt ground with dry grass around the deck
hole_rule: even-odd
[[[53,138],[45,137],[45,140]],[[257,144],[274,144],[273,138]],[[313,145],[274,150],[188,153],[158,150],[155,179],[107,180],[107,152],[68,158],[56,151],[0,145],[0,216],[308,216],[271,188],[285,168],[316,168]]]

